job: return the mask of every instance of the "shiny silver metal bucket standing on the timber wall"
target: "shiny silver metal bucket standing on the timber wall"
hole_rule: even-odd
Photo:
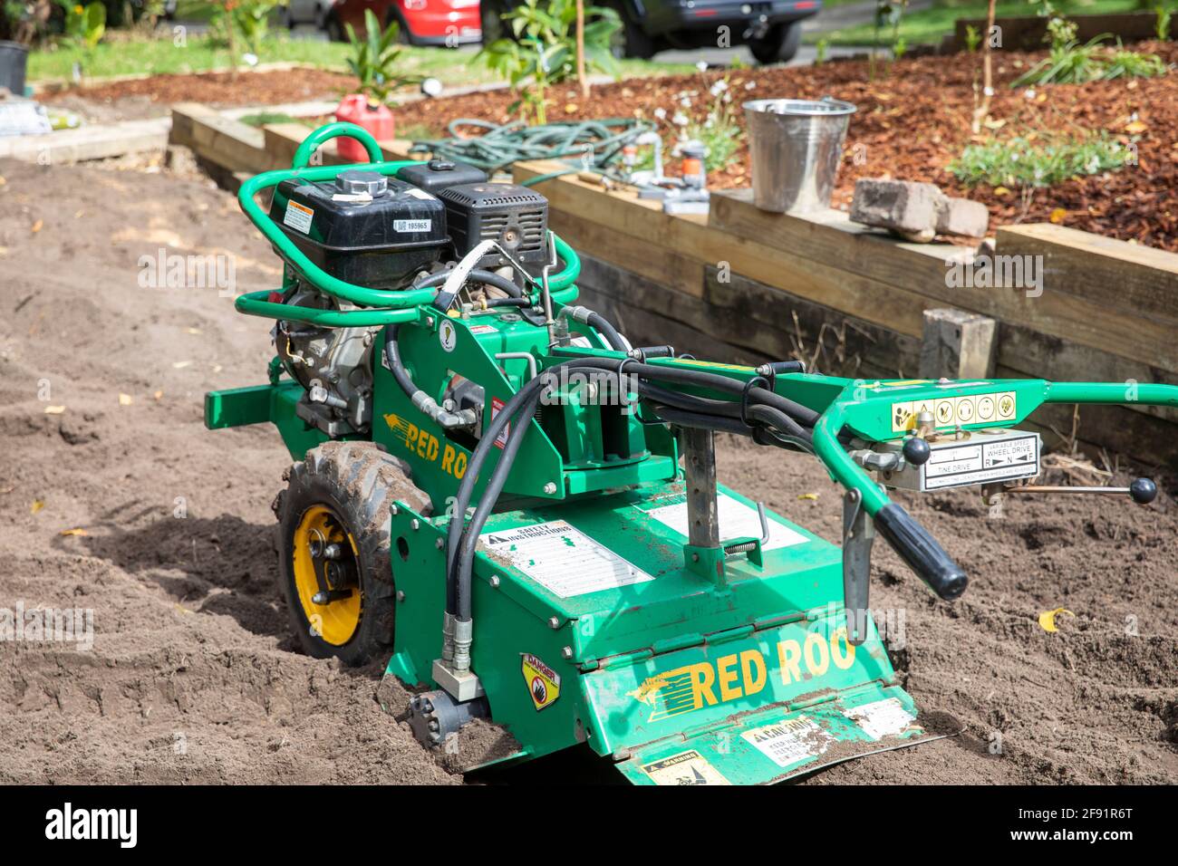
[[[830,97],[744,103],[753,203],[799,213],[830,206],[842,141],[855,106]]]

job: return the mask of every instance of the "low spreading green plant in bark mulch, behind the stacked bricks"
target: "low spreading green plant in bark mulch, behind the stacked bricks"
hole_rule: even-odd
[[[1104,132],[1085,137],[1030,134],[968,145],[947,168],[967,186],[1038,189],[1120,168],[1130,161],[1130,148]]]

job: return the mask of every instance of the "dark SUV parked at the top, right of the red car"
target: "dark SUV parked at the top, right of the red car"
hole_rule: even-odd
[[[484,44],[507,35],[499,16],[514,5],[514,0],[482,0]],[[818,14],[822,0],[598,0],[597,5],[613,7],[622,18],[617,35],[622,57],[748,45],[759,62],[777,64],[798,53],[801,21]]]

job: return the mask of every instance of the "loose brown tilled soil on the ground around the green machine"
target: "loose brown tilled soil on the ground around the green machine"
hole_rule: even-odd
[[[236,257],[239,291],[273,285],[233,198],[168,171],[0,174],[0,607],[90,608],[97,632],[92,652],[0,643],[0,781],[461,781],[379,709],[379,666],[311,660],[287,632],[270,502],[289,458],[267,427],[201,424],[206,390],[264,379],[267,323],[213,289],[137,283],[166,246]],[[813,461],[724,442],[721,474],[836,537]],[[906,687],[966,732],[814,781],[1178,781],[1172,493],[1004,520],[968,495],[909,502],[972,588],[935,601],[880,544],[874,607],[904,612]],[[1047,634],[1057,607],[1076,616]],[[463,748],[502,745],[479,726]]]

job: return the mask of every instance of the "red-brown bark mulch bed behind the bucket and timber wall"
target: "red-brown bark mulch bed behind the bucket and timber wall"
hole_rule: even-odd
[[[1178,45],[1145,42],[1167,64],[1178,61]],[[967,189],[946,170],[971,143],[969,119],[980,57],[955,54],[879,64],[869,80],[867,61],[815,67],[707,72],[657,79],[626,80],[595,87],[585,104],[571,87],[554,91],[551,118],[646,117],[662,108],[670,118],[682,111],[702,119],[709,87],[727,77],[734,104],[769,97],[833,95],[859,106],[852,118],[833,206],[846,209],[855,180],[892,176],[927,180],[954,196],[967,196],[990,209],[992,225],[1053,222],[1123,240],[1178,251],[1178,73],[1153,79],[1119,79],[1086,85],[1012,88],[1045,52],[1001,52],[995,57],[995,94],[991,115],[997,128],[987,135],[1044,135],[1105,131],[1123,144],[1134,143],[1138,165],[1035,190],[1025,201],[1018,190],[990,185]],[[681,105],[688,94],[690,106]],[[402,128],[429,127],[439,133],[454,118],[511,119],[508,92],[476,93],[419,101],[398,110]],[[743,128],[743,117],[736,112]],[[662,121],[664,131],[669,120]],[[744,141],[730,164],[714,172],[715,189],[748,186]]]

